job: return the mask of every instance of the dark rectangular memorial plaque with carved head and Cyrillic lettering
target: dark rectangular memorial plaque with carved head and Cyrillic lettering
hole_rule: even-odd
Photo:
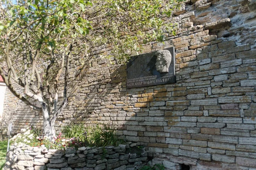
[[[131,57],[127,63],[127,88],[175,83],[174,47]]]

